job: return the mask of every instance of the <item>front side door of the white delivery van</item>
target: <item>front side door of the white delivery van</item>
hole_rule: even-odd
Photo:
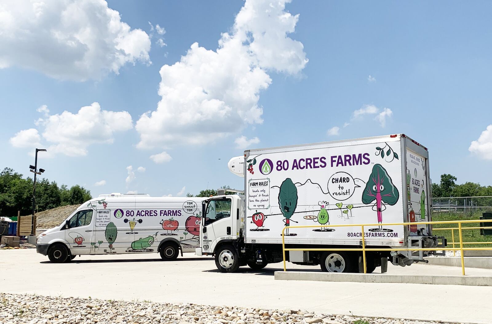
[[[70,252],[73,255],[89,254],[93,241],[94,210],[83,209],[77,211],[67,221],[65,228],[65,240],[68,242]]]

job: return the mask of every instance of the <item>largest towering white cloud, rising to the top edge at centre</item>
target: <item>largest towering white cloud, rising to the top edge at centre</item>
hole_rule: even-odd
[[[262,123],[258,100],[272,82],[268,72],[296,74],[307,64],[303,44],[287,36],[299,15],[286,2],[246,0],[215,51],[193,43],[180,61],[163,65],[162,99],[137,121],[137,147],[202,144]]]

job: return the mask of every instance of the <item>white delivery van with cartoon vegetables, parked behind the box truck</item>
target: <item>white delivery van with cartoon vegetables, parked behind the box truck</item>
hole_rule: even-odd
[[[180,251],[183,256],[199,246],[204,199],[100,195],[41,234],[36,249],[54,263],[77,255],[152,252],[160,253],[163,260],[175,260]]]

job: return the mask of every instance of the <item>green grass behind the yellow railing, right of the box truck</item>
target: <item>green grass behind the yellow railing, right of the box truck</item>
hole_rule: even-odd
[[[481,212],[476,212],[473,214],[462,214],[462,213],[448,213],[448,212],[433,212],[432,213],[432,221],[453,221],[453,220],[478,220],[482,215]],[[486,225],[486,224],[485,224]],[[462,236],[463,242],[492,242],[491,235],[480,235],[480,229],[474,230],[466,230],[467,227],[478,227],[479,223],[468,223],[462,224]],[[492,223],[489,223],[489,226],[492,227]],[[435,224],[432,225],[432,228],[435,230],[437,228],[447,228],[447,227],[458,227],[458,224]],[[452,234],[451,230],[445,231],[432,231],[435,236],[445,236],[448,240],[448,247],[453,247]],[[454,231],[455,234],[455,242],[460,242],[460,236],[458,230]],[[459,244],[456,244],[455,247],[460,247]],[[491,247],[492,244],[464,244],[463,247]]]

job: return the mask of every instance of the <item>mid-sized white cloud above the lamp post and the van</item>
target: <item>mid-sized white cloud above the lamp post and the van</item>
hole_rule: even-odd
[[[42,141],[38,130],[30,128],[15,134],[10,139],[12,146],[31,147],[29,143],[37,142],[38,145],[48,145],[46,148],[50,156],[57,153],[81,156],[87,154],[87,147],[90,145],[111,144],[115,132],[133,128],[133,121],[128,112],[102,110],[97,102],[80,108],[76,114],[64,111],[61,114],[49,115],[48,108],[41,107],[44,107],[41,110],[44,116],[36,120],[35,124],[42,129]]]

